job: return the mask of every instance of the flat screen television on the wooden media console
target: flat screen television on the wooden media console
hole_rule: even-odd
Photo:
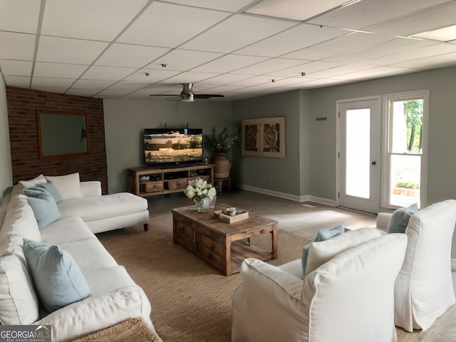
[[[201,128],[145,128],[144,158],[148,166],[202,162]]]

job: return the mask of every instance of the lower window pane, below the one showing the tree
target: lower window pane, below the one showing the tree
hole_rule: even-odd
[[[420,155],[391,155],[390,204],[408,207],[420,206]]]

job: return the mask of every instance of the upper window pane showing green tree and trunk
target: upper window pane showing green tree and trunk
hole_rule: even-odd
[[[394,101],[391,152],[421,153],[423,99]]]

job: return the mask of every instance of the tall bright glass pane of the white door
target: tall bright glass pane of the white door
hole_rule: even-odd
[[[371,196],[371,109],[346,111],[346,194]]]

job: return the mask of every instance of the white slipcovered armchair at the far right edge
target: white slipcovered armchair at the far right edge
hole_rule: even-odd
[[[388,228],[391,214],[378,214],[377,227]],[[395,281],[395,325],[406,331],[430,328],[455,304],[451,275],[451,244],[456,200],[447,199],[410,217],[407,250]]]

